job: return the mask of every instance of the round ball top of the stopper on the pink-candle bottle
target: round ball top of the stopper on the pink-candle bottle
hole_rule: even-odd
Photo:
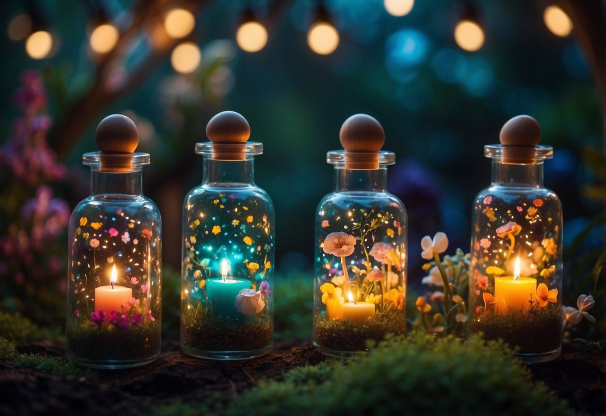
[[[139,130],[127,116],[112,114],[97,126],[95,141],[103,153],[133,153],[139,144]]]

